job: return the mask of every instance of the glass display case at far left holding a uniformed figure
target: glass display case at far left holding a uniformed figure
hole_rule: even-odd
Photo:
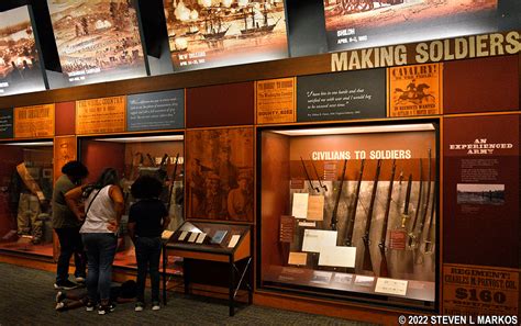
[[[53,142],[0,143],[0,249],[53,257]]]

